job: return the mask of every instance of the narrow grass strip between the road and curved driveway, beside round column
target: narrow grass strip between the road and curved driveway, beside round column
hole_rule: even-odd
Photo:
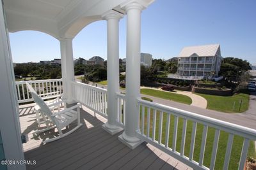
[[[191,104],[192,100],[188,96],[184,96],[182,94],[175,94],[170,92],[164,92],[160,90],[153,90],[153,89],[140,89],[141,94],[145,94],[148,96],[159,97],[162,99],[167,99],[170,101],[176,101],[179,103]]]

